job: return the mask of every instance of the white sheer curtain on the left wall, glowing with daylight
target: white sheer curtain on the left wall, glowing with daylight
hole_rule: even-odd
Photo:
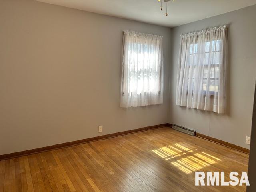
[[[124,31],[121,107],[163,103],[162,39]]]

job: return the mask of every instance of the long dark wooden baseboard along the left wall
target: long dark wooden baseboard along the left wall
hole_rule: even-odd
[[[54,149],[74,146],[74,145],[87,143],[87,142],[92,142],[92,141],[96,141],[96,140],[102,140],[102,139],[106,139],[106,138],[112,138],[112,137],[116,137],[116,136],[131,134],[131,133],[134,133],[134,132],[141,132],[141,131],[156,129],[156,128],[160,128],[160,127],[172,127],[172,125],[168,124],[168,123],[159,124],[159,125],[142,127],[142,128],[123,131],[123,132],[118,132],[118,133],[102,135],[102,136],[98,136],[98,137],[92,137],[92,138],[87,138],[87,139],[82,139],[82,140],[77,140],[77,141],[71,141],[71,142],[46,146],[46,147],[40,147],[40,148],[36,148],[36,149],[30,149],[30,150],[25,150],[25,151],[20,151],[20,152],[14,152],[14,153],[10,153],[10,154],[4,154],[4,155],[0,155],[0,160],[6,160],[6,159],[10,159],[10,158],[16,158],[16,157],[20,157],[20,156],[25,156],[25,155],[50,151],[50,150],[54,150]]]

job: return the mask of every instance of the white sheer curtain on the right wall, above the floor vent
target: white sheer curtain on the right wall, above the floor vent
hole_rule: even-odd
[[[182,35],[176,104],[224,113],[226,65],[226,26]]]

